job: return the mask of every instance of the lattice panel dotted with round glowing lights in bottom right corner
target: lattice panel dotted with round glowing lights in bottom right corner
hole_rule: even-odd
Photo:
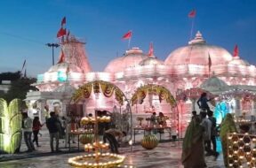
[[[256,135],[228,134],[228,166],[256,167]],[[246,166],[244,164],[246,163]]]

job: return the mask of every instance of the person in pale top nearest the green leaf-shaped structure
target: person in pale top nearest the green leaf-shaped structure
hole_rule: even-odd
[[[24,112],[22,113],[22,118],[23,118],[23,135],[24,135],[24,140],[25,143],[28,147],[28,152],[32,152],[33,150],[36,150],[34,147],[34,144],[31,140],[32,136],[32,119],[28,118],[28,113]]]

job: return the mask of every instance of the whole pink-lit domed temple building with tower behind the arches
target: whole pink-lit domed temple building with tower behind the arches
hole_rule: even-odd
[[[178,125],[177,131],[181,133],[188,125],[191,111],[200,111],[196,100],[203,92],[215,97],[212,110],[219,123],[228,112],[246,118],[255,114],[255,66],[243,60],[238,49],[232,56],[228,50],[208,44],[199,31],[188,45],[171,51],[165,60],[158,59],[157,54],[148,55],[133,47],[126,50],[122,57],[111,60],[104,72],[92,72],[84,44],[75,36],[60,42],[64,54],[61,56],[60,52],[61,61],[47,72],[37,75],[34,86],[39,91],[28,92],[26,100],[31,114],[35,103],[41,110],[46,104],[52,111],[59,108],[63,116],[73,110],[77,115],[85,116],[95,111],[95,107],[98,110],[125,112],[127,104],[117,103],[115,95],[106,100],[104,95],[94,94],[70,105],[70,98],[76,89],[95,80],[113,83],[128,100],[138,88],[146,85],[152,86],[152,89],[154,86],[168,89],[176,100],[175,107],[159,100],[158,95],[145,95],[142,101],[132,105],[132,122],[136,122],[138,117],[147,118],[153,111],[162,111],[170,117],[171,124]],[[43,113],[40,118],[44,118]]]

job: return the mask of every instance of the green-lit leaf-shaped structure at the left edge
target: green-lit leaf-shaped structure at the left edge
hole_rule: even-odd
[[[15,153],[20,150],[21,131],[21,101],[13,99],[9,104],[0,98],[0,153]]]

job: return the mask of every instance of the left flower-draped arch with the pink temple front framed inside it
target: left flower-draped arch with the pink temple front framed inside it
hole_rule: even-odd
[[[102,80],[84,84],[72,96],[68,110],[81,106],[82,111],[73,113],[69,111],[69,115],[80,114],[79,117],[82,118],[88,115],[94,116],[95,111],[104,111],[111,116],[112,124],[115,124],[116,128],[126,133],[131,132],[131,106],[123,91],[116,85]]]

